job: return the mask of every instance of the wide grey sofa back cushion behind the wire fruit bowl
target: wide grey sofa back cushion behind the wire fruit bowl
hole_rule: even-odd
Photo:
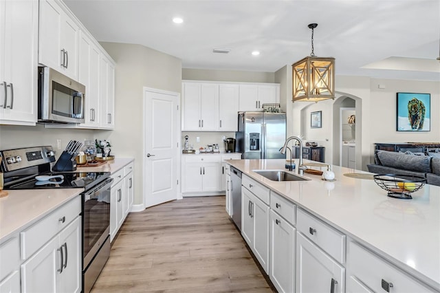
[[[431,172],[431,157],[425,155],[406,155],[394,151],[377,151],[377,157],[384,166],[423,173]]]

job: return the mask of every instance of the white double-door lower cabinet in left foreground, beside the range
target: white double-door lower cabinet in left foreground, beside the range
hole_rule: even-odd
[[[81,291],[81,217],[21,265],[22,292]]]

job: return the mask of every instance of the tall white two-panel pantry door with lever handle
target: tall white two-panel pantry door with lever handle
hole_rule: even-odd
[[[144,202],[155,206],[177,199],[179,94],[144,89]]]

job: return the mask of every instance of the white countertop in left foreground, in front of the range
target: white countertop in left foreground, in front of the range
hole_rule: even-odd
[[[83,191],[84,188],[8,191],[6,197],[0,198],[0,243]]]

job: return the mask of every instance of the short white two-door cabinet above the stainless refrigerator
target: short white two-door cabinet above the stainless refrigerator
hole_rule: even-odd
[[[239,111],[263,111],[263,104],[280,102],[280,85],[240,85]]]

